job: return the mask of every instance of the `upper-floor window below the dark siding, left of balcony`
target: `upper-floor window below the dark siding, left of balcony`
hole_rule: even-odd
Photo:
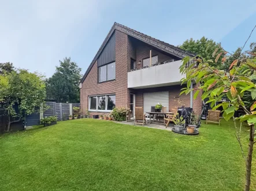
[[[116,62],[99,67],[99,82],[116,79]]]

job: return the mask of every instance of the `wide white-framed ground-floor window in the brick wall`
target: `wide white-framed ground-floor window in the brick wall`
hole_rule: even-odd
[[[90,96],[89,110],[110,111],[116,106],[116,95]]]

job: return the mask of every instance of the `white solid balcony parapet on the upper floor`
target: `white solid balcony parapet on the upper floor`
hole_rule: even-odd
[[[182,60],[154,64],[151,67],[128,72],[128,88],[143,89],[149,87],[161,87],[179,85],[180,79],[185,74],[180,74],[179,67]]]

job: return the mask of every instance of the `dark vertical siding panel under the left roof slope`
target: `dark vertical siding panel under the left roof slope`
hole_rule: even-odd
[[[98,67],[116,60],[116,33],[110,37],[98,58]]]

